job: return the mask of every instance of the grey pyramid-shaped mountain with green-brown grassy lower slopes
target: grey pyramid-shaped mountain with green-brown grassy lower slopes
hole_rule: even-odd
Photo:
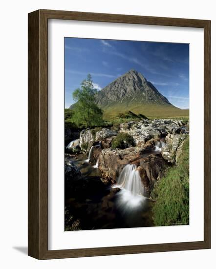
[[[189,116],[189,110],[173,106],[151,82],[133,69],[98,91],[96,103],[107,120],[128,111],[147,117]]]

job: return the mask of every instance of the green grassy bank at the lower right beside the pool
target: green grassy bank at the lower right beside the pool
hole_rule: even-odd
[[[189,138],[178,165],[155,184],[151,197],[156,200],[152,209],[156,226],[189,224]]]

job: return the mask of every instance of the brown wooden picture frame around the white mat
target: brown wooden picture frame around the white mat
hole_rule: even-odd
[[[134,23],[204,29],[204,241],[48,250],[48,20]],[[210,83],[211,22],[206,20],[114,15],[58,10],[28,14],[28,255],[72,258],[211,247]]]

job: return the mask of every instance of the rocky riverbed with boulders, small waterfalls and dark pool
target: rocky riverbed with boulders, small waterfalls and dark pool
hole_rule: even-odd
[[[133,143],[113,148],[120,133]],[[189,124],[173,119],[82,130],[65,150],[65,229],[153,226],[151,192],[164,171],[177,164],[188,135]]]

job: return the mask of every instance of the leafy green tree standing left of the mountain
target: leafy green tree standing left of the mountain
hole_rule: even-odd
[[[85,123],[87,127],[103,123],[103,112],[95,103],[95,94],[91,75],[81,83],[81,89],[73,92],[74,105],[73,119],[77,124]]]

